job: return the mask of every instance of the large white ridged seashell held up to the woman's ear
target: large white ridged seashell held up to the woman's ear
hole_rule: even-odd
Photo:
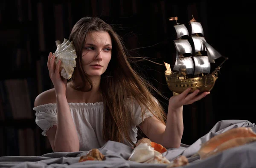
[[[76,67],[76,49],[73,42],[64,38],[63,43],[59,40],[55,41],[57,49],[53,55],[55,55],[54,65],[61,60],[61,76],[64,79],[69,80],[72,77],[74,67]]]

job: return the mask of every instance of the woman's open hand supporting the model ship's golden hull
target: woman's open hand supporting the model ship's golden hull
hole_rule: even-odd
[[[207,94],[210,93],[210,92],[205,91],[201,94],[198,94],[199,90],[195,90],[191,94],[189,94],[190,90],[191,90],[191,88],[187,88],[181,94],[171,97],[169,99],[169,108],[172,108],[172,110],[177,111],[177,109],[182,107],[183,105],[192,104],[198,100],[201,100]]]

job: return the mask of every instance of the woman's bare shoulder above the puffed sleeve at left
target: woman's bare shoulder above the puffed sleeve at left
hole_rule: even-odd
[[[49,103],[56,103],[54,88],[44,91],[41,94],[38,94],[38,96],[35,98],[34,106],[37,107],[38,105]]]

